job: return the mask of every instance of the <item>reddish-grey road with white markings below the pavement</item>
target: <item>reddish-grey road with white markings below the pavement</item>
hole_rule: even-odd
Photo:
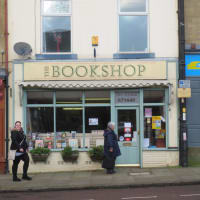
[[[0,193],[0,200],[199,200],[200,185]]]

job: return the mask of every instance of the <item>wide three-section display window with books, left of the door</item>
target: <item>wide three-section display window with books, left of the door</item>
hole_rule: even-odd
[[[110,91],[106,90],[27,91],[26,132],[31,148],[103,145],[111,116],[109,103]]]

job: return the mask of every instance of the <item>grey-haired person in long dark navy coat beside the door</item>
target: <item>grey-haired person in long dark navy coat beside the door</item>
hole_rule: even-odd
[[[117,135],[114,132],[115,123],[109,122],[104,131],[104,160],[102,167],[107,169],[107,174],[115,173],[115,160],[121,155]]]

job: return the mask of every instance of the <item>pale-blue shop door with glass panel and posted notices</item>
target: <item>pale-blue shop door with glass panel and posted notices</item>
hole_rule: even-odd
[[[139,166],[139,108],[116,108],[116,133],[121,150],[121,156],[116,165]]]

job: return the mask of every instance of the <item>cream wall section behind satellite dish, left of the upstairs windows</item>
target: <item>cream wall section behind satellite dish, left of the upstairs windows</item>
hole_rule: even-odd
[[[8,49],[9,60],[19,59],[13,50],[17,42],[26,42],[31,45],[35,54],[35,0],[8,1]]]

